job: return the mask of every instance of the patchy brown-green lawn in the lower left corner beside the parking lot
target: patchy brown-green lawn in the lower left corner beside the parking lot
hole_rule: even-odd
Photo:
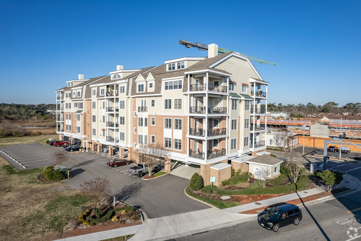
[[[79,190],[55,190],[63,182],[40,182],[43,170],[18,171],[0,157],[1,240],[59,239],[69,219],[91,204]]]

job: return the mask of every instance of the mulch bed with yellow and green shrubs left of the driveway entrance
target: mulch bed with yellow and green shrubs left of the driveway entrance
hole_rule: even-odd
[[[119,203],[114,208],[118,208],[118,207],[125,207],[125,204]],[[105,205],[101,206],[101,210],[102,210],[101,216],[105,215],[112,208],[113,208],[113,204],[109,204],[107,206],[105,206]],[[138,211],[135,211],[135,213],[138,213]],[[127,217],[127,215],[129,215],[129,212],[127,212],[126,214],[121,214],[121,212],[117,212],[116,215],[119,218],[119,220],[121,220],[124,217]],[[96,218],[95,212],[93,210],[90,213],[90,216],[93,218]],[[139,214],[139,216],[140,216],[140,214]],[[112,219],[110,219],[104,223],[96,224],[93,227],[91,227],[90,225],[87,225],[83,228],[79,228],[79,226],[78,226],[78,228],[75,228],[73,230],[62,232],[61,238],[68,238],[68,237],[73,237],[73,236],[78,236],[78,235],[83,235],[83,234],[88,234],[88,233],[96,233],[96,232],[106,231],[106,230],[116,229],[116,228],[124,228],[124,227],[129,227],[129,226],[138,225],[138,224],[142,224],[141,216],[140,216],[140,220],[132,221],[132,223],[121,223],[120,221],[114,222],[114,221],[112,221]]]

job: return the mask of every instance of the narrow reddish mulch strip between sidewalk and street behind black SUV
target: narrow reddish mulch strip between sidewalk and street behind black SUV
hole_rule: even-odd
[[[283,204],[300,204],[300,203],[305,203],[305,202],[308,202],[308,201],[312,201],[312,200],[316,200],[316,199],[319,199],[319,198],[324,198],[326,196],[331,196],[331,195],[335,195],[335,194],[338,194],[338,193],[341,193],[341,192],[344,192],[344,191],[347,191],[349,190],[348,188],[338,188],[338,189],[334,189],[331,191],[331,193],[328,193],[327,191],[324,191],[322,193],[318,193],[318,194],[313,194],[313,195],[309,195],[309,196],[306,196],[304,198],[297,198],[297,199],[293,199],[293,200],[289,200],[287,202],[282,202],[282,203],[275,203],[275,204],[272,204],[270,206],[264,206],[264,207],[259,207],[259,208],[255,208],[255,209],[252,209],[252,210],[247,210],[247,211],[244,211],[244,212],[239,212],[239,213],[243,213],[243,214],[258,214],[259,212],[257,211],[264,211],[266,208],[268,207],[277,207],[277,206],[280,206],[280,205],[283,205]]]

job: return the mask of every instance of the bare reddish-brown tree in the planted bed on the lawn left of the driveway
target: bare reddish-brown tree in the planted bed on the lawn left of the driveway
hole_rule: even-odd
[[[91,198],[95,203],[96,207],[99,208],[99,203],[101,202],[104,195],[110,193],[109,180],[105,178],[94,178],[89,182],[84,182],[80,185],[83,195]]]

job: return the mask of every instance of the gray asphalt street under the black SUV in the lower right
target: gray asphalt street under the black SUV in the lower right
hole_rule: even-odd
[[[175,240],[361,240],[360,200],[361,192],[357,192],[317,204],[306,204],[305,207],[300,206],[303,214],[300,224],[281,227],[277,233],[261,227],[255,218],[247,223]],[[348,212],[357,208],[360,210]]]

